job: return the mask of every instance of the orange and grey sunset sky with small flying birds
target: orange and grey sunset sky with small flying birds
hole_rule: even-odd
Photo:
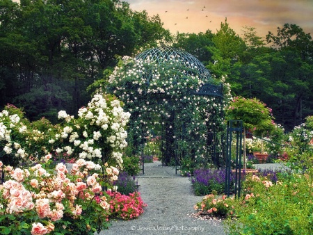
[[[227,22],[238,35],[243,26],[255,27],[257,35],[276,34],[283,24],[297,24],[313,35],[313,0],[126,0],[132,10],[159,15],[171,33],[216,33]],[[205,7],[204,7],[205,6]],[[188,18],[187,18],[188,17]]]

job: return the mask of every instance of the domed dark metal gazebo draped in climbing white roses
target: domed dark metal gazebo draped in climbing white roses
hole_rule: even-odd
[[[150,61],[152,63],[149,63]],[[144,63],[146,67],[143,66]],[[133,65],[134,67],[131,67]],[[147,132],[152,133],[150,130],[147,131],[149,128],[147,123],[157,120],[159,124],[161,123],[159,133],[162,138],[161,152],[165,165],[172,165],[174,161],[176,166],[180,165],[185,156],[197,162],[201,158],[218,167],[224,165],[224,157],[220,149],[222,138],[218,136],[223,128],[216,122],[209,124],[204,121],[223,116],[223,108],[216,108],[215,105],[222,106],[223,84],[213,79],[209,70],[195,56],[182,49],[171,47],[148,49],[138,54],[127,66],[129,67],[123,70],[112,89],[115,95],[125,102],[125,108],[131,110],[131,122],[135,124],[130,124],[128,130],[130,137],[127,141],[134,151],[140,152],[145,144]],[[168,73],[156,73],[164,67]],[[179,70],[175,70],[177,67]],[[132,80],[134,76],[131,75],[126,75],[125,80],[125,74],[136,74],[140,82]],[[191,79],[193,83],[186,82]],[[172,93],[165,92],[160,87],[156,88],[157,82],[161,84],[160,86],[164,84],[164,88],[165,83],[170,83]],[[200,106],[204,114],[192,105],[195,99],[196,102],[198,100],[201,102]],[[141,102],[138,102],[139,100]],[[211,100],[211,103],[207,102],[208,100]],[[159,109],[151,108],[152,106],[158,106]],[[191,113],[197,113],[197,117]],[[141,123],[137,120],[141,120]],[[201,131],[197,131],[198,129]],[[200,158],[197,159],[198,156]]]

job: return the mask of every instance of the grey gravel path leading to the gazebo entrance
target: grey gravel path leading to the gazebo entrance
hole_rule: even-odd
[[[193,205],[202,196],[193,195],[190,180],[175,175],[175,168],[159,161],[145,163],[145,174],[140,173],[136,179],[147,204],[144,213],[134,220],[111,220],[111,227],[100,234],[226,234],[223,221],[193,216]]]

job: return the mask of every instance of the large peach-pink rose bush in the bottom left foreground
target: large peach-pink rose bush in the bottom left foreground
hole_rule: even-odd
[[[102,186],[113,188],[118,169],[79,159],[68,172],[50,163],[3,168],[0,234],[94,234],[109,226],[111,197]]]

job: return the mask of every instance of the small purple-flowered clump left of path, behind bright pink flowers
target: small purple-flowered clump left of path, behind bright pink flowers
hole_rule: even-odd
[[[130,176],[128,172],[120,172],[118,180],[114,182],[114,186],[123,195],[129,195],[129,193],[138,191],[138,181],[136,181],[134,176]]]

